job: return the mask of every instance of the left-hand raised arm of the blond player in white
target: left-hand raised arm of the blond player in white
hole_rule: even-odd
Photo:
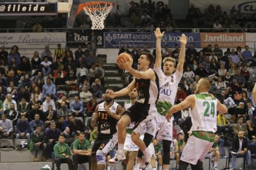
[[[160,28],[156,28],[155,36],[156,36],[156,62],[154,68],[160,68],[162,63],[162,54],[161,54],[161,38],[164,35],[164,31],[161,33]]]

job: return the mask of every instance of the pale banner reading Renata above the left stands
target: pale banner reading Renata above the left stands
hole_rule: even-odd
[[[42,48],[46,45],[66,46],[66,33],[0,33],[0,46],[7,48],[14,45],[19,48]]]

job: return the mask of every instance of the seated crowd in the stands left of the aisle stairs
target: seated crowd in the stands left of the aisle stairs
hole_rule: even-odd
[[[45,46],[31,60],[17,46],[11,51],[1,47],[0,60],[1,139],[33,142],[35,161],[40,147],[45,150],[43,160],[51,158],[62,132],[67,138],[85,132],[86,139],[95,140],[97,129],[90,123],[85,126],[84,121],[95,111],[96,99],[101,95],[104,99],[105,70],[90,44],[85,50],[79,46],[74,53],[61,44],[54,51]]]

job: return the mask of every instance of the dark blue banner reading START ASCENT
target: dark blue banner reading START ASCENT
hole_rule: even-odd
[[[154,35],[155,36],[155,35]],[[138,48],[142,48],[147,45],[148,48],[153,47],[153,34],[152,33],[137,33],[137,32],[127,32],[127,33],[104,33],[104,47],[105,48],[118,48],[119,42],[121,47],[127,44],[129,48],[133,45],[137,45]]]

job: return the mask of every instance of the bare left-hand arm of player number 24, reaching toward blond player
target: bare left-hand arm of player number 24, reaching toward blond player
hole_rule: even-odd
[[[171,116],[173,115],[173,113],[177,113],[177,111],[180,111],[184,108],[188,108],[190,107],[193,103],[195,102],[195,97],[194,95],[189,95],[188,97],[186,97],[185,100],[183,100],[181,103],[177,104],[177,105],[173,105],[173,107],[171,107],[166,115],[165,118],[167,119],[167,121],[169,122],[169,118],[171,118]]]

